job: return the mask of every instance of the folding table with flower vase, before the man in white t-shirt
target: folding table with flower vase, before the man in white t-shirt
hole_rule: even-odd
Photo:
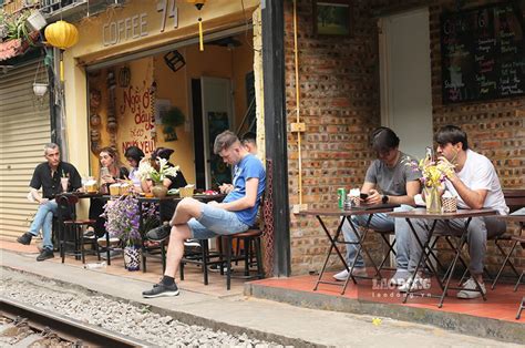
[[[414,273],[412,274],[412,277],[415,277],[415,275],[418,274],[418,270],[421,266],[421,263],[422,262],[426,263],[426,260],[428,260],[426,258],[432,253],[431,250],[429,250],[429,243],[432,238],[432,235],[434,233],[434,228],[435,228],[435,225],[436,225],[437,221],[445,221],[446,223],[449,223],[451,219],[456,219],[456,218],[465,218],[466,219],[464,228],[463,228],[463,231],[461,233],[461,236],[460,236],[460,242],[457,243],[456,247],[454,248],[454,252],[455,252],[454,259],[452,260],[452,264],[449,266],[449,269],[445,273],[445,278],[444,278],[445,285],[444,286],[442,284],[440,277],[437,276],[437,272],[434,269],[434,266],[432,265],[432,263],[430,263],[430,262],[426,263],[429,268],[431,269],[431,272],[437,278],[437,283],[440,284],[440,287],[443,289],[443,293],[441,294],[441,296],[437,296],[440,298],[440,303],[437,305],[439,308],[443,307],[443,301],[444,301],[444,298],[445,298],[446,293],[447,293],[449,289],[461,289],[461,288],[451,287],[450,282],[452,279],[452,275],[453,275],[455,266],[457,264],[457,259],[460,258],[463,245],[466,243],[466,235],[467,235],[467,231],[469,231],[469,225],[470,225],[472,218],[473,217],[482,217],[482,216],[493,216],[493,215],[496,215],[496,214],[497,214],[497,212],[494,211],[494,209],[460,209],[455,213],[440,213],[440,214],[436,214],[436,213],[428,213],[426,209],[424,209],[424,208],[419,208],[419,209],[414,209],[414,211],[410,211],[410,212],[395,212],[395,213],[390,213],[389,214],[392,217],[404,218],[406,221],[406,223],[410,226],[410,229],[412,231],[412,234],[415,237],[415,240],[418,240],[418,244],[421,247],[421,256],[420,256],[420,259],[418,260],[418,264],[415,266]],[[412,225],[411,219],[425,219],[425,221],[431,221],[432,222],[431,226],[429,228],[429,237],[426,238],[426,242],[424,244],[421,243],[421,239],[419,238],[419,236],[415,232],[415,228]],[[453,234],[451,234],[451,235],[453,235]],[[477,280],[474,277],[473,277],[473,279],[476,283],[477,290],[482,294],[483,299],[486,300],[485,294],[481,290],[480,284],[477,283]],[[412,293],[414,293],[414,291],[412,291],[409,288],[408,291],[404,295],[403,304],[406,303],[410,294],[412,294]],[[430,295],[430,296],[432,296],[432,295]],[[432,296],[432,297],[435,297],[435,296]]]

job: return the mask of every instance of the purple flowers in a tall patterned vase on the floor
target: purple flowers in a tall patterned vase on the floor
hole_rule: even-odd
[[[121,196],[109,201],[102,214],[106,222],[105,229],[111,237],[116,237],[124,244],[124,262],[127,270],[141,268],[142,236],[138,231],[138,199],[133,195]]]

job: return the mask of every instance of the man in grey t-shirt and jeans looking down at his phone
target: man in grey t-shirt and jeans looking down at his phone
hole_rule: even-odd
[[[368,194],[364,201],[367,204],[400,204],[397,212],[410,211],[414,205],[414,196],[420,193],[421,173],[414,171],[408,165],[411,157],[399,151],[399,137],[388,127],[379,127],[371,134],[371,146],[377,153],[378,160],[374,160],[367,171],[361,193]],[[366,226],[369,215],[352,216],[354,226]],[[390,280],[392,284],[401,284],[409,277],[409,248],[410,231],[405,228],[395,228],[395,219],[384,213],[373,214],[370,221],[370,228],[388,232],[395,232],[395,250],[398,272]],[[342,226],[346,242],[357,242],[356,234],[352,232],[348,221]],[[358,245],[347,245],[347,263],[349,267],[356,258]],[[357,255],[353,268],[354,276],[366,276],[367,270],[362,255]],[[349,276],[348,269],[343,269],[333,276],[337,280],[346,280]]]

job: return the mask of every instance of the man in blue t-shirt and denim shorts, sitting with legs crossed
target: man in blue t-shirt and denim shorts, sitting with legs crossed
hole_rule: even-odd
[[[151,290],[143,291],[143,297],[178,295],[174,278],[187,238],[208,239],[237,234],[247,231],[257,218],[260,196],[266,186],[262,163],[250,154],[230,131],[217,135],[214,152],[223,157],[226,164],[234,165],[234,190],[222,203],[204,204],[194,198],[184,198],[178,203],[169,222],[171,228],[162,226],[146,234],[151,240],[163,240],[169,236],[169,245],[164,277]]]

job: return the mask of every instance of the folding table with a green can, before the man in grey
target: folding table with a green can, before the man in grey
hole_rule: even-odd
[[[307,209],[307,211],[299,212],[298,215],[316,216],[317,219],[319,221],[319,224],[322,227],[322,231],[325,231],[325,234],[327,235],[328,240],[330,242],[330,248],[328,249],[327,257],[325,259],[325,264],[322,265],[322,269],[319,273],[319,277],[316,282],[316,286],[313,287],[315,291],[318,289],[319,284],[328,284],[328,285],[342,286],[341,295],[343,295],[350,279],[352,279],[353,284],[357,284],[356,277],[358,277],[358,276],[354,276],[352,273],[353,273],[353,268],[356,266],[356,260],[358,259],[359,254],[361,253],[361,250],[363,250],[363,253],[367,255],[367,257],[369,258],[369,260],[373,265],[373,267],[375,269],[375,276],[381,278],[381,272],[375,266],[375,263],[373,262],[372,257],[370,256],[370,253],[368,252],[367,247],[363,245],[363,242],[364,242],[364,238],[367,236],[367,233],[368,233],[368,229],[369,229],[369,226],[370,226],[370,222],[372,221],[373,214],[390,213],[390,212],[393,211],[394,207],[398,207],[399,205],[389,205],[389,207],[385,207],[385,205],[380,205],[380,206],[382,206],[382,207],[374,208],[373,206],[367,206],[367,207],[356,207],[356,208],[352,208],[352,209],[349,209],[349,211],[343,211],[341,208],[331,208],[331,209],[329,208],[329,209]],[[353,225],[352,219],[350,218],[353,215],[369,215],[369,217],[367,219],[367,225],[364,226],[364,232],[362,233],[362,235],[359,234],[357,227]],[[327,225],[322,221],[322,216],[325,216],[325,217],[342,217],[341,222],[339,223],[339,225],[337,227],[337,231],[336,231],[333,237],[330,234],[330,232],[328,231]],[[340,237],[341,231],[342,231],[342,225],[343,225],[344,221],[348,221],[348,223],[350,224],[351,231],[357,237],[357,242],[339,240],[339,237]],[[344,259],[341,252],[339,250],[339,248],[337,246],[338,244],[347,244],[347,245],[357,244],[358,245],[358,250],[356,253],[356,256],[352,260],[352,265],[350,267],[348,266],[347,260]],[[336,249],[336,253],[337,253],[339,259],[341,260],[342,265],[344,266],[344,268],[349,273],[349,277],[347,278],[344,284],[322,280],[322,276],[325,275],[325,272],[327,269],[328,260],[330,259],[330,255],[332,254],[333,249]],[[360,277],[360,278],[364,278],[364,277]]]

